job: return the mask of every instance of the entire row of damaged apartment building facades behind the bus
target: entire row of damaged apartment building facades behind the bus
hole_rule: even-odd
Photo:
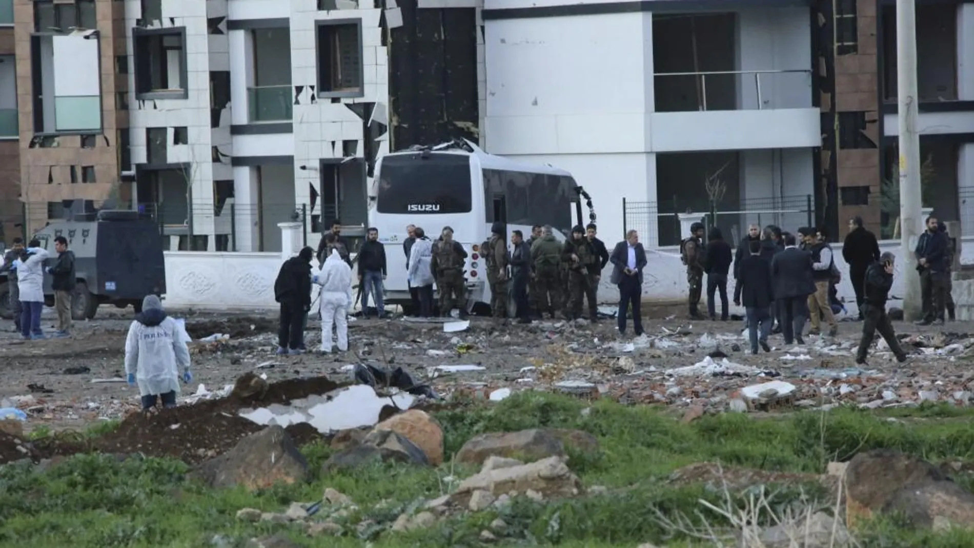
[[[674,243],[711,208],[732,237],[853,215],[891,236],[892,7],[0,0],[0,218],[110,200],[171,249],[275,251],[291,220],[358,237],[379,155],[466,137],[571,170],[607,237]],[[966,227],[974,3],[918,0],[918,57],[924,201]]]

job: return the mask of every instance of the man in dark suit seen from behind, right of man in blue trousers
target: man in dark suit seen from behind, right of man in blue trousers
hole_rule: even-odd
[[[808,315],[808,295],[815,292],[811,277],[811,253],[795,246],[795,235],[782,235],[785,248],[771,259],[774,301],[778,307],[778,325],[785,344],[804,345],[802,330]]]

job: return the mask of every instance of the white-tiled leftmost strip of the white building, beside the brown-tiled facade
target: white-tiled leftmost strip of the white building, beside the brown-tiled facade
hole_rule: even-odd
[[[135,172],[132,205],[160,220],[166,248],[225,250],[231,231],[216,226],[213,204],[223,197],[214,196],[214,181],[232,179],[231,143],[229,128],[220,139],[225,106],[212,113],[220,93],[210,83],[230,63],[226,33],[209,21],[226,15],[226,0],[125,6],[131,165],[123,168]]]

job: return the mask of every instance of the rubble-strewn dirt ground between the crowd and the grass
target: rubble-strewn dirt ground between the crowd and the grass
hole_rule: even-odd
[[[442,396],[460,392],[499,398],[504,394],[499,391],[502,388],[548,389],[581,397],[612,397],[630,404],[701,408],[707,413],[726,411],[729,405],[740,411],[731,400],[740,397],[742,387],[772,380],[794,384],[797,389],[788,404],[799,407],[839,402],[870,407],[916,405],[921,400],[968,405],[972,398],[968,383],[974,374],[970,373],[968,352],[974,353],[974,340],[966,335],[974,332],[970,322],[941,328],[895,322],[897,333],[914,354],[911,361],[898,364],[887,351],[872,357],[868,367],[857,367],[852,352],[860,336],[858,322],[841,322],[834,340],[808,337],[805,347],[782,348],[781,337],[772,336],[774,351],[750,355],[741,336],[742,322],[691,322],[672,316],[679,310],[652,308],[651,318],[645,320],[647,336],[637,340],[619,337],[615,319],[597,324],[543,321],[496,329],[489,318],[474,317],[468,329],[458,333],[445,333],[442,323],[357,319],[350,323],[350,352],[283,357],[274,354],[276,318],[195,313],[186,317],[187,332],[194,340],[213,334],[229,335],[229,340],[191,344],[194,380],[184,386],[181,399],[185,402],[200,384],[216,390],[254,372],[266,375],[272,384],[294,380],[274,388],[279,393],[268,394],[263,402],[286,403],[328,391],[331,382],[351,381],[351,366],[356,363],[401,367],[418,381],[430,383]],[[182,314],[172,311],[172,315]],[[0,322],[4,373],[0,404],[27,413],[25,431],[40,427],[80,430],[99,420],[123,419],[139,409],[137,388],[124,382],[124,345],[131,310],[99,311],[96,319],[76,323],[74,337],[66,340],[23,342],[13,332],[12,322]],[[45,319],[45,328],[51,329],[50,318]],[[315,349],[318,322],[312,319],[308,329],[308,346]],[[718,371],[704,366],[682,373],[674,369],[693,366],[708,354],[718,364],[726,356],[731,365],[740,367],[718,367]],[[464,373],[434,369],[444,365],[483,369]],[[300,380],[320,377],[330,381]],[[185,431],[193,439],[175,444],[170,439],[173,449],[148,453],[164,451],[189,460],[211,456],[228,443],[232,445],[242,432],[259,428],[236,416],[239,402],[220,401],[223,403],[201,402],[187,408],[195,411],[185,416],[177,409],[149,422],[139,416],[130,418],[115,435],[101,440],[103,447],[98,449],[143,451],[146,448],[139,446],[143,443],[139,440],[151,440],[153,436],[146,434],[157,428],[169,429],[169,434]],[[204,405],[213,407],[201,407]],[[227,434],[225,439],[222,433]]]

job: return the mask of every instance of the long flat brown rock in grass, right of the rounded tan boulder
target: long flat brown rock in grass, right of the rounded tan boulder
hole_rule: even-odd
[[[519,432],[491,432],[471,438],[457,453],[457,460],[470,464],[481,464],[488,457],[537,460],[564,456],[566,447],[591,453],[598,451],[599,442],[581,430],[533,428]]]

